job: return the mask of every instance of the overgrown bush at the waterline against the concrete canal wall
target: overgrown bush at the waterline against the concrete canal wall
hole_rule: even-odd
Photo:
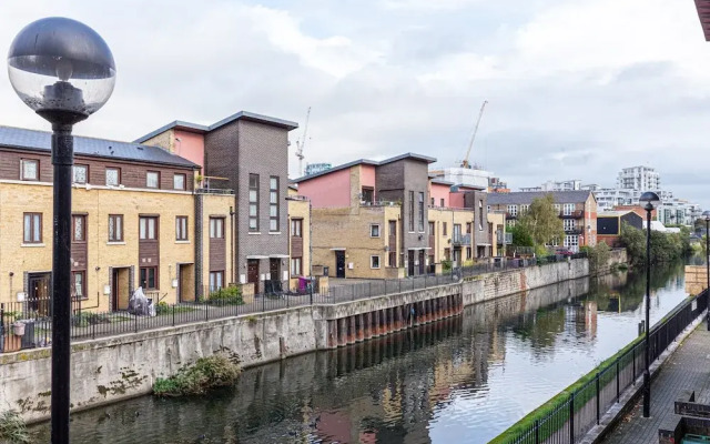
[[[156,396],[201,395],[211,389],[234,384],[240,372],[239,364],[224,355],[201,357],[193,365],[180,369],[169,379],[155,380],[153,394]]]

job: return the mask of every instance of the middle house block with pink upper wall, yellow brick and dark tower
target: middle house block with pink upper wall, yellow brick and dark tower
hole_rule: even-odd
[[[425,273],[427,168],[434,161],[412,153],[361,159],[295,180],[313,206],[314,266],[336,278]]]

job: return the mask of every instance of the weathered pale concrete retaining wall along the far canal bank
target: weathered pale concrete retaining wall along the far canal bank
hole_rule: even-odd
[[[588,261],[582,259],[337,305],[302,306],[77,342],[72,344],[72,406],[88,408],[150,393],[156,377],[217,352],[239,355],[243,366],[252,366],[322,349],[327,346],[328,320],[432,299],[457,297],[462,305],[469,305],[588,274]],[[49,349],[0,354],[0,411],[18,410],[29,422],[47,420],[50,376]]]

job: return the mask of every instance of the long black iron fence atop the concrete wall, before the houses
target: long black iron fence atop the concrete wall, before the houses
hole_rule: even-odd
[[[571,259],[582,258],[578,254]],[[317,279],[302,278],[295,289],[288,281],[263,281],[255,294],[243,293],[236,286],[202,289],[201,297],[168,304],[164,294],[145,292],[152,309],[149,315],[131,311],[94,312],[72,302],[71,337],[94,339],[124,333],[175,326],[193,322],[248,315],[295,306],[336,304],[388,294],[424,290],[473,279],[477,275],[567,261],[564,255],[539,259],[503,259],[471,266],[454,268],[443,274],[425,274],[397,280],[368,280],[358,283],[332,283],[320,287]],[[334,280],[335,281],[335,280]],[[27,300],[0,304],[0,353],[47,346],[51,343],[51,300]]]

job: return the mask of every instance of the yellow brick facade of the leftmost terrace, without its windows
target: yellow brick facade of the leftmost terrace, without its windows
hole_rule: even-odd
[[[203,281],[209,282],[209,215],[225,215],[225,240],[227,246],[227,270],[225,283],[232,282],[229,261],[231,224],[229,208],[233,195],[204,196],[205,258]],[[72,192],[72,211],[85,214],[87,266],[85,299],[82,310],[115,310],[112,297],[113,269],[125,270],[119,280],[131,289],[140,285],[139,263],[139,218],[141,214],[159,216],[160,259],[158,290],[153,295],[166,303],[179,301],[178,291],[194,292],[195,263],[195,196],[191,192],[116,190],[100,186],[75,186]],[[23,213],[42,214],[42,242],[23,244]],[[109,242],[109,215],[123,215],[123,241]],[[187,240],[176,241],[175,218],[187,216]],[[44,183],[0,183],[0,302],[16,302],[19,293],[29,295],[28,278],[33,273],[49,273],[52,269],[52,186]],[[182,276],[180,272],[182,271]],[[10,275],[12,274],[12,275]],[[190,287],[192,283],[192,289]],[[125,304],[126,294],[121,295]],[[22,295],[20,294],[20,297]],[[183,300],[194,299],[184,294]]]

